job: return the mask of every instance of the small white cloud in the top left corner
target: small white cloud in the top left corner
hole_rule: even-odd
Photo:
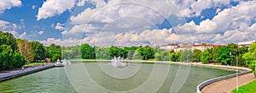
[[[5,9],[10,9],[13,7],[20,7],[20,6],[21,6],[20,0],[1,0],[0,1],[0,14],[2,14]]]

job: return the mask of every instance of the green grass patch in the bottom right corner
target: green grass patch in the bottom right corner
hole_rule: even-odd
[[[233,93],[256,93],[256,80],[247,85],[242,85],[238,88],[238,91],[233,90]]]

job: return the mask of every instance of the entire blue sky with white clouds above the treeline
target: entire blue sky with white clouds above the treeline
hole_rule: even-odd
[[[255,40],[255,1],[9,0],[0,30],[63,46]],[[164,7],[163,7],[164,6]],[[240,38],[237,38],[239,36]],[[62,43],[62,44],[61,44]]]

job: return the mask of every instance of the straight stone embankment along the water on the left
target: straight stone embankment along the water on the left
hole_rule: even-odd
[[[47,63],[44,65],[38,65],[36,67],[15,68],[12,70],[1,71],[0,82],[8,80],[8,79],[14,79],[14,78],[26,75],[26,74],[32,74],[32,73],[42,71],[47,68],[53,68],[53,67],[55,67],[54,63]]]

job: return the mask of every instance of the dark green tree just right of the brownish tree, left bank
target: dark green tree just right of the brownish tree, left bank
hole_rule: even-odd
[[[32,41],[31,42],[32,51],[34,53],[34,60],[44,60],[45,59],[45,49],[43,44],[41,44],[39,41]]]

